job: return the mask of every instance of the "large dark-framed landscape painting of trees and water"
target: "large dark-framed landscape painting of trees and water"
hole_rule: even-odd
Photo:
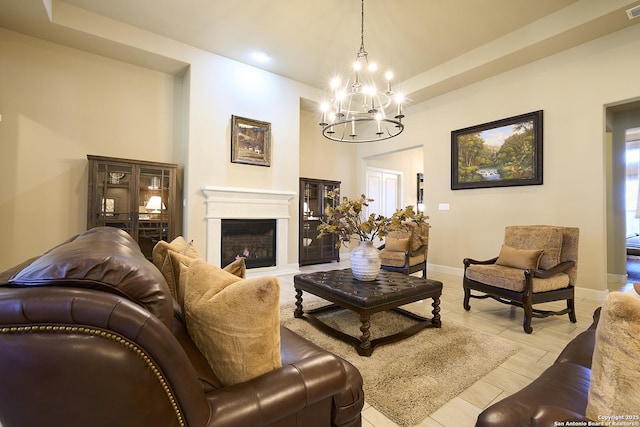
[[[451,189],[542,185],[542,110],[451,132]]]

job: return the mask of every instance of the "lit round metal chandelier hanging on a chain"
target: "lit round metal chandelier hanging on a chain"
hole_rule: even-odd
[[[361,0],[360,50],[356,54],[351,78],[331,81],[331,101],[321,105],[322,135],[338,142],[373,142],[393,138],[404,130],[404,98],[391,90],[393,74],[387,71],[380,90],[376,84],[375,63],[369,63],[364,48],[364,0]]]

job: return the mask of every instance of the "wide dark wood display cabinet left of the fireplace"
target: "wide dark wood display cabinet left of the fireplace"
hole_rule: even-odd
[[[120,228],[151,259],[159,240],[176,237],[177,165],[94,155],[87,159],[87,228]]]

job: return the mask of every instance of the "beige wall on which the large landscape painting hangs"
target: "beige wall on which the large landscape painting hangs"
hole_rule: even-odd
[[[578,286],[606,289],[605,106],[640,97],[640,26],[413,106],[407,128],[361,156],[425,143],[429,262],[460,269],[497,255],[504,226],[580,227]],[[452,130],[544,110],[544,185],[450,189]],[[362,175],[361,175],[362,176]],[[362,178],[360,178],[362,179]],[[439,203],[450,210],[439,211]]]

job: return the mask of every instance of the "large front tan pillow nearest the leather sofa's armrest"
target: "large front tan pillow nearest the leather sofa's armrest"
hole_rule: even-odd
[[[189,335],[225,386],[282,366],[276,277],[243,280],[196,259],[186,278],[184,313]]]

